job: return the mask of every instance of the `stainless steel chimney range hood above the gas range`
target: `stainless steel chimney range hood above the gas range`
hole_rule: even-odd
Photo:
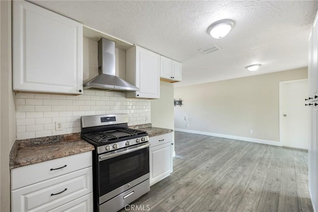
[[[98,76],[83,84],[84,89],[99,88],[126,92],[139,88],[115,75],[115,42],[101,38],[98,41]]]

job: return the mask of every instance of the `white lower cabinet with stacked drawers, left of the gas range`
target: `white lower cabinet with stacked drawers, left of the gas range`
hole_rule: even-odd
[[[67,156],[65,158],[54,159],[42,163],[16,168],[11,170],[11,185],[16,185],[16,174],[19,175],[19,181],[23,180],[23,172],[32,173],[34,176],[43,175],[45,163],[47,168],[56,167],[57,162],[64,164],[57,169],[61,172],[70,167],[73,159],[81,164],[77,170],[57,177],[52,177],[44,181],[37,181],[11,191],[11,210],[12,212],[48,212],[48,211],[76,211],[90,212],[93,210],[92,204],[92,166],[87,164],[84,159],[90,156],[91,152],[84,152],[77,155]],[[63,161],[64,159],[64,161]],[[79,163],[79,161],[83,161]],[[88,166],[88,167],[87,167]],[[22,169],[23,168],[23,169]],[[36,171],[36,168],[38,170]],[[53,173],[57,170],[49,170]],[[64,170],[63,170],[64,169]],[[22,170],[22,171],[21,171]],[[39,179],[44,179],[39,178]]]

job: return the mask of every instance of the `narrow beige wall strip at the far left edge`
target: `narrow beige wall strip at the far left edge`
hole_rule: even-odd
[[[10,211],[9,152],[15,141],[11,67],[11,1],[0,1],[0,211]]]

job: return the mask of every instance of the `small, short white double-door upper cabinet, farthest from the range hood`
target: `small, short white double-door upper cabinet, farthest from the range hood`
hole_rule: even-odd
[[[160,56],[160,78],[164,81],[181,81],[182,65],[179,62]]]

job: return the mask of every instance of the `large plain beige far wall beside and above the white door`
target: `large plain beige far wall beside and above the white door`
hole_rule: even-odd
[[[307,72],[302,68],[177,87],[174,97],[184,105],[175,107],[175,128],[277,142],[279,81],[307,78]]]

